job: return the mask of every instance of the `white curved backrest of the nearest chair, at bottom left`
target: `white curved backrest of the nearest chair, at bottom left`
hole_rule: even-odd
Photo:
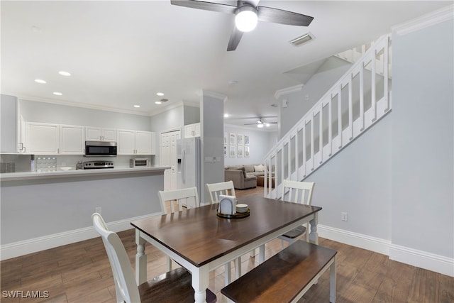
[[[140,294],[129,257],[120,237],[107,229],[106,223],[98,213],[92,214],[94,229],[101,235],[114,275],[118,302],[140,302]]]

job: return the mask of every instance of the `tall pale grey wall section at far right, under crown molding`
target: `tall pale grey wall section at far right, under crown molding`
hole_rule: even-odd
[[[392,243],[454,257],[453,21],[392,36]]]

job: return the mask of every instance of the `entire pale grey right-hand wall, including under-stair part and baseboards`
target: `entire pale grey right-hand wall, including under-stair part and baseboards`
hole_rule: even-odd
[[[392,112],[306,178],[323,236],[451,276],[453,29],[451,18],[393,34]]]

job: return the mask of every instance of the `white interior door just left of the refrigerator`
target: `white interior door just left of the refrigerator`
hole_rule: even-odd
[[[181,131],[161,133],[160,164],[170,166],[164,171],[164,190],[177,189],[177,140]]]

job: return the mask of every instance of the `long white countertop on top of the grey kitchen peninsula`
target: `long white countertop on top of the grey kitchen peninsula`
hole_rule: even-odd
[[[115,167],[96,170],[57,170],[55,172],[9,172],[0,174],[0,181],[33,180],[55,177],[138,174],[144,172],[162,172],[167,169],[170,169],[170,167],[151,165],[147,167]]]

